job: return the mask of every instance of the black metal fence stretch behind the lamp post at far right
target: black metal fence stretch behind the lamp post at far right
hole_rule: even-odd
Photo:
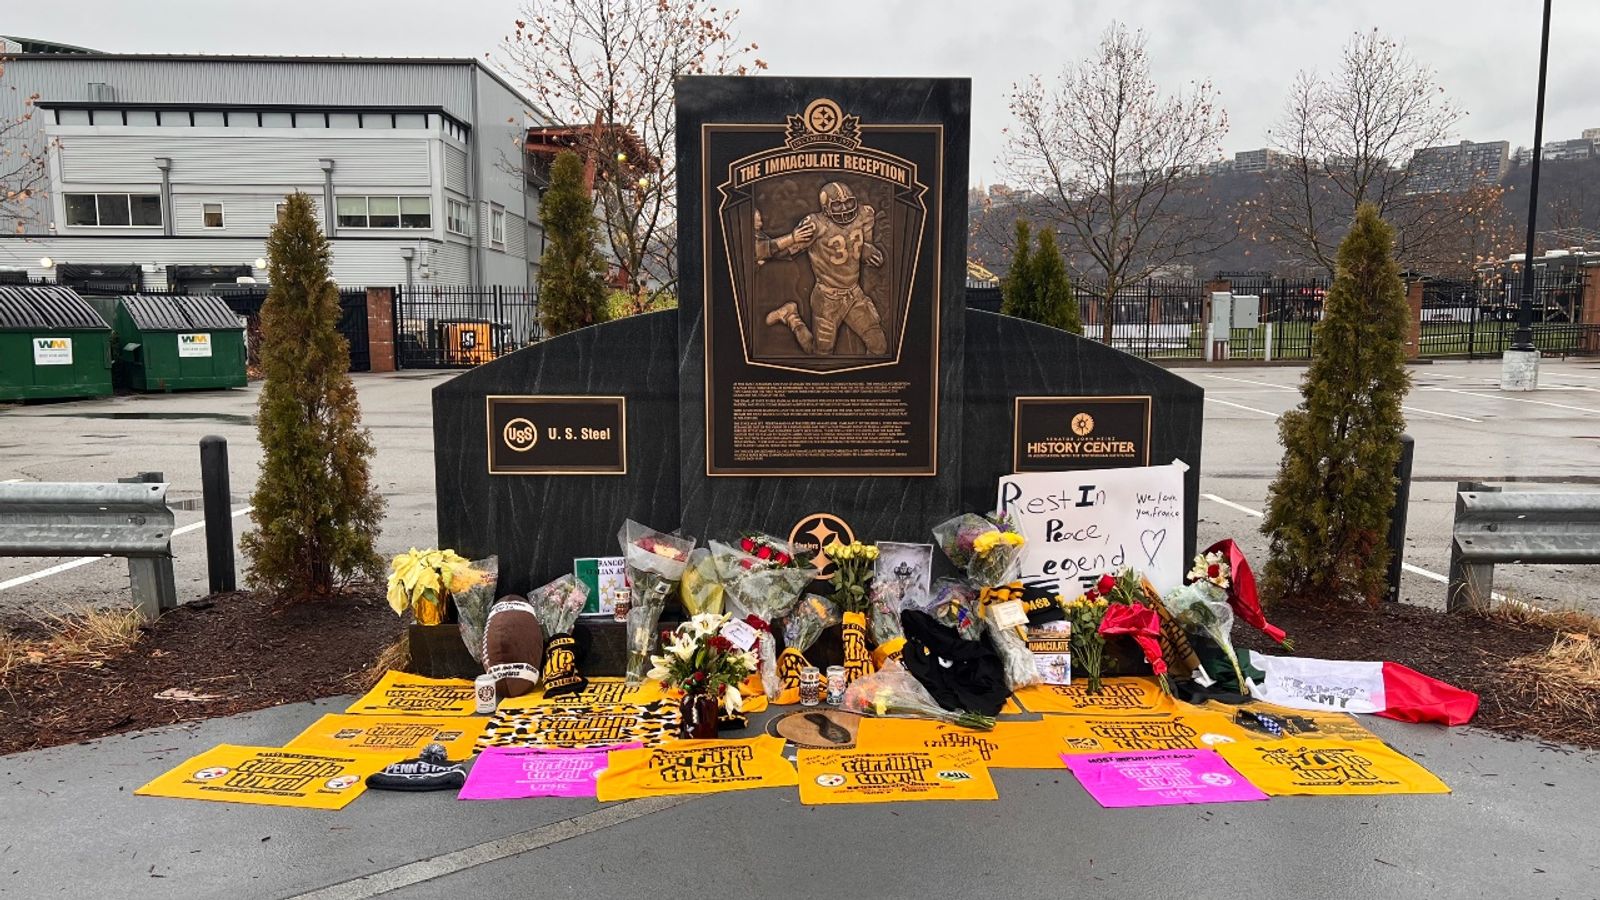
[[[1600,352],[1600,325],[1582,323],[1589,272],[1534,272],[1533,344],[1547,354]],[[1434,279],[1422,283],[1419,352],[1426,357],[1496,357],[1517,333],[1522,304],[1517,272],[1475,280]]]

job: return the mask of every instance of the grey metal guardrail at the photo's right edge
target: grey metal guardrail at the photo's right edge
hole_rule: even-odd
[[[1600,564],[1600,492],[1456,485],[1445,609],[1488,610],[1494,564]]]

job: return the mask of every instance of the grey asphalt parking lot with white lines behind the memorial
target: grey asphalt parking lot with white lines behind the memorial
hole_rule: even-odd
[[[1277,469],[1277,416],[1299,400],[1302,368],[1178,368],[1206,389],[1202,544],[1234,536],[1261,560],[1259,511]],[[1443,605],[1458,480],[1523,482],[1530,490],[1600,490],[1600,362],[1546,360],[1538,394],[1501,394],[1498,362],[1413,370],[1406,400],[1416,468],[1402,597]],[[376,480],[389,501],[379,551],[434,543],[432,407],[450,372],[357,375],[365,424],[378,445]],[[256,389],[125,396],[0,408],[0,480],[115,480],[162,471],[179,506],[174,569],[181,601],[206,593],[198,511],[198,440],[229,440],[235,535],[259,448]],[[186,508],[186,506],[194,506]],[[1496,588],[1546,604],[1600,612],[1600,567],[1502,567]],[[0,559],[0,613],[72,604],[126,604],[126,564],[115,559]]]

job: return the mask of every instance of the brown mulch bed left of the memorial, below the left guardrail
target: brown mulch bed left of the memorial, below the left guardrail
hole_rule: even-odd
[[[144,626],[133,647],[98,666],[8,673],[0,754],[363,689],[402,631],[382,586],[288,605],[248,591],[214,594]],[[216,700],[155,698],[168,689]]]

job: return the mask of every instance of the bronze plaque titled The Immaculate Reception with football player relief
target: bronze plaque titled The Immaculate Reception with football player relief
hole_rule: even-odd
[[[701,127],[706,474],[934,476],[944,133]]]

